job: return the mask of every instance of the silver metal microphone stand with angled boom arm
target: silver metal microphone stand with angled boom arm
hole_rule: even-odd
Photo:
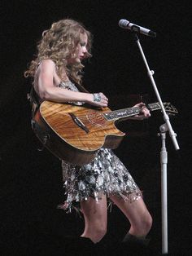
[[[136,37],[137,46],[142,54],[142,59],[144,60],[144,63],[146,64],[146,69],[148,76],[151,79],[152,86],[155,90],[155,95],[157,96],[160,108],[162,109],[163,117],[165,123],[159,127],[160,133],[159,136],[161,136],[162,140],[162,148],[160,152],[160,163],[161,163],[161,214],[162,214],[162,254],[168,254],[168,193],[167,193],[167,164],[168,164],[168,152],[166,150],[166,132],[169,132],[169,135],[172,139],[172,143],[176,150],[179,149],[176,134],[172,130],[171,123],[169,121],[168,114],[165,112],[164,104],[160,98],[159,91],[157,89],[157,86],[155,85],[155,80],[153,78],[154,71],[150,70],[149,65],[146,62],[146,57],[144,55],[144,52],[142,51],[142,46],[139,42],[139,38],[137,36],[137,33],[134,33]]]

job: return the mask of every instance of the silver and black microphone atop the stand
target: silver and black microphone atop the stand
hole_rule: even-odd
[[[122,29],[129,29],[132,32],[136,32],[136,33],[142,33],[146,36],[152,37],[152,38],[156,38],[156,33],[150,29],[145,29],[137,24],[133,24],[131,23],[129,20],[120,20],[119,21],[119,26]]]

